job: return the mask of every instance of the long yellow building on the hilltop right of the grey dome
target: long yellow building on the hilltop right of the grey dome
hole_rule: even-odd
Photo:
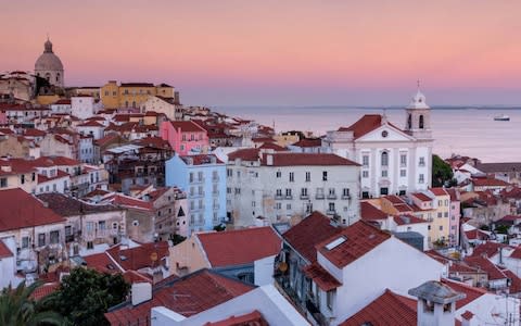
[[[122,83],[111,80],[101,87],[100,97],[105,108],[141,108],[151,96],[175,98],[177,92],[174,87],[151,83]]]

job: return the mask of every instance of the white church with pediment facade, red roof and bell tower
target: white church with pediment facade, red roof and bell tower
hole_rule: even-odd
[[[405,129],[385,114],[367,114],[350,127],[328,131],[322,146],[361,164],[361,197],[405,195],[431,185],[430,108],[418,92],[406,108]]]

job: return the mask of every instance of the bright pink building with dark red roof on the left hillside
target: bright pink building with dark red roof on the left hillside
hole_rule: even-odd
[[[209,147],[206,130],[192,121],[166,121],[160,134],[179,155],[205,153]]]

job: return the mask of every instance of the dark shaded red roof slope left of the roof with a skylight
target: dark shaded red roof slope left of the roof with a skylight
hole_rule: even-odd
[[[282,237],[309,262],[317,260],[316,244],[342,231],[331,220],[320,212],[313,212],[301,223],[287,230]]]

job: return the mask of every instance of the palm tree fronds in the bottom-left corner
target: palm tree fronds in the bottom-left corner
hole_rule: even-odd
[[[39,311],[39,303],[30,294],[40,284],[26,287],[25,281],[15,289],[11,285],[0,292],[0,325],[37,326],[61,325],[62,317],[52,311]]]

